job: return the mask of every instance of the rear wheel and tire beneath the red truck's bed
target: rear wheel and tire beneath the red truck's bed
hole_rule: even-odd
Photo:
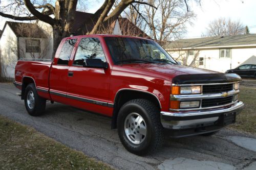
[[[33,83],[25,89],[25,107],[31,116],[39,116],[44,113],[46,108],[46,99],[41,98],[36,91]]]

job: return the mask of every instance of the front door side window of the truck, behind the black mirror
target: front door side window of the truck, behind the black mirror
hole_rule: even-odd
[[[101,59],[101,61],[106,62],[106,58],[98,38],[81,39],[73,65],[84,66],[86,59],[90,58]]]

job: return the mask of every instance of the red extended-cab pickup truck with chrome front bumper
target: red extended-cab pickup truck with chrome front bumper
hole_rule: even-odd
[[[240,81],[181,66],[149,39],[83,35],[63,39],[53,61],[19,60],[14,84],[30,115],[51,101],[110,116],[124,147],[142,155],[161,146],[164,132],[207,136],[234,123]]]

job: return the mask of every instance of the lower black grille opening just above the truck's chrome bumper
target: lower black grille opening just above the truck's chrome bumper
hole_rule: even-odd
[[[202,108],[226,105],[232,103],[232,101],[233,96],[228,96],[226,98],[203,99]]]

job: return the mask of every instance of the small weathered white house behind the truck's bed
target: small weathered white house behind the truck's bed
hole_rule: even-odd
[[[13,79],[20,58],[49,58],[48,41],[35,23],[6,21],[0,36],[1,77]]]

